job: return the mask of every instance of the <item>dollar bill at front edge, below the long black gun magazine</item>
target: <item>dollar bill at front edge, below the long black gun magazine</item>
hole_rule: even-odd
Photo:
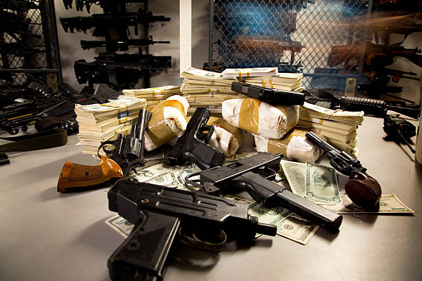
[[[318,229],[318,225],[292,214],[277,225],[277,234],[305,245]]]

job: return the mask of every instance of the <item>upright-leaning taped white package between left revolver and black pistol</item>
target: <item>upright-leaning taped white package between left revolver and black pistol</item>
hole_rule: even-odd
[[[145,149],[151,151],[185,132],[189,103],[183,96],[170,96],[155,105],[145,130]]]

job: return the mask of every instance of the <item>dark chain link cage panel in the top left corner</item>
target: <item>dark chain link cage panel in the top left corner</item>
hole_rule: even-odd
[[[57,89],[61,65],[53,0],[0,1],[0,84]]]

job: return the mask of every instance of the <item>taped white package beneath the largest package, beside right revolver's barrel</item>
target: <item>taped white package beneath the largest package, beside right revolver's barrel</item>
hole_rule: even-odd
[[[286,158],[302,163],[315,162],[323,151],[306,139],[307,132],[292,129],[279,140],[254,135],[254,149],[258,152],[282,153]]]

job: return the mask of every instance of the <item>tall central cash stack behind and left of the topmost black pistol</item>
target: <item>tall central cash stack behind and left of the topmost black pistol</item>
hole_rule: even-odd
[[[244,98],[245,95],[232,91],[236,78],[225,78],[221,73],[187,67],[181,73],[184,81],[181,92],[189,102],[188,116],[197,107],[208,106],[212,115],[221,116],[221,103],[231,98]]]

